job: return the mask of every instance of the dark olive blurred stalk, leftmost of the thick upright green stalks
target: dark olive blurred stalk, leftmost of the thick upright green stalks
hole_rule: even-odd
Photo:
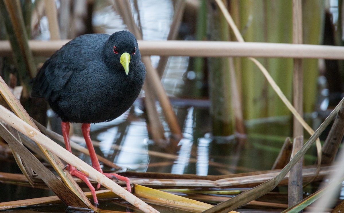
[[[223,14],[207,2],[208,32],[212,41],[228,41],[228,24]],[[211,100],[212,132],[215,136],[234,134],[230,93],[229,58],[208,58],[209,96]]]

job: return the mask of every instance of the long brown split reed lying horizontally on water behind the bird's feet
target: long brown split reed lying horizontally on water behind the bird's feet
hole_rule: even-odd
[[[197,175],[175,175],[166,173],[142,173],[142,172],[124,172],[120,175],[126,175],[133,184],[145,185],[151,188],[187,188],[199,190],[209,190],[209,188],[251,188],[264,183],[267,180],[278,175],[282,170],[268,170],[258,172],[248,172],[240,174],[219,175],[219,176],[197,176]],[[316,167],[307,166],[303,168],[303,181],[309,181],[313,178]],[[322,180],[327,174],[334,172],[335,166],[321,167],[320,174],[316,180]],[[22,174],[0,173],[0,181],[2,183],[15,183],[17,185],[28,186],[29,183]],[[78,178],[75,180],[87,187],[86,184]],[[46,185],[37,177],[35,178],[35,187],[46,189]],[[97,184],[91,180],[92,183]],[[125,184],[124,182],[122,182]],[[283,177],[277,185],[287,185],[288,176]]]

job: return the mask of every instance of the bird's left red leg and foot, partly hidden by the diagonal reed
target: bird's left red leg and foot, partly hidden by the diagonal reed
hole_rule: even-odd
[[[65,141],[65,145],[66,145],[66,149],[69,152],[72,152],[71,149],[71,144],[69,143],[69,122],[63,122],[61,123],[61,128],[62,128],[62,135],[63,135],[63,139]],[[92,196],[93,196],[93,201],[98,204],[98,199],[97,199],[97,195],[96,195],[96,190],[94,189],[93,185],[91,184],[91,182],[88,180],[87,175],[78,171],[75,167],[71,166],[71,165],[67,165],[68,171],[69,173],[71,173],[71,175],[80,178],[81,180],[83,180],[86,185],[88,186],[88,188],[90,189]]]

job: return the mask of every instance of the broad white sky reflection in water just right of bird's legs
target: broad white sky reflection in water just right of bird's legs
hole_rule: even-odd
[[[137,107],[137,106],[133,106]],[[141,114],[132,114],[130,111],[138,112],[140,110],[129,109],[125,114],[117,119],[106,123],[113,127],[105,129],[97,135],[100,141],[99,149],[101,153],[113,162],[123,168],[129,168],[135,171],[146,171],[148,156],[148,133],[146,122]],[[103,126],[105,123],[95,124]],[[146,141],[146,142],[145,142]]]

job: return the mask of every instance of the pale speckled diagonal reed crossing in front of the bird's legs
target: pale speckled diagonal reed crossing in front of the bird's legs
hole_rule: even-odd
[[[80,160],[78,157],[74,156],[72,153],[68,152],[66,149],[52,141],[50,138],[46,137],[39,130],[25,123],[23,120],[15,116],[13,113],[11,113],[8,109],[6,109],[3,106],[0,106],[0,119],[12,126],[13,128],[20,131],[25,136],[34,140],[37,144],[41,145],[46,149],[49,149],[56,156],[60,157],[72,166],[76,167],[78,170],[88,175],[95,181],[99,182],[101,185],[108,188],[121,198],[125,199],[141,211],[147,213],[158,212],[157,210],[153,209],[151,206],[144,203],[127,190],[120,187],[114,181],[106,178],[104,174],[101,174],[96,169],[89,166],[87,163]]]

